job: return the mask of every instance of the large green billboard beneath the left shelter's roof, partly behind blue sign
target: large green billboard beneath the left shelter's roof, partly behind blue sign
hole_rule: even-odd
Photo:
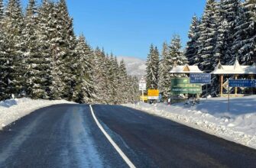
[[[201,84],[190,83],[189,78],[170,79],[170,92],[172,94],[200,94],[202,93]]]

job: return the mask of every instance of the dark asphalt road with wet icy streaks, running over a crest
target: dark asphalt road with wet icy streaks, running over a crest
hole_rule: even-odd
[[[96,118],[136,167],[256,167],[256,150],[117,105]],[[0,167],[128,167],[89,105],[41,108],[0,131]]]

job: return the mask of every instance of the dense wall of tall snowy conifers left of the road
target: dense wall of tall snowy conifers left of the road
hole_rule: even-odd
[[[0,0],[0,99],[120,104],[138,99],[138,79],[113,54],[76,37],[65,0]]]

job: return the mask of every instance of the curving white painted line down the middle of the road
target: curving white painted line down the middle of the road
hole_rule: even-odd
[[[125,163],[127,163],[128,166],[130,166],[132,168],[135,168],[134,164],[131,163],[131,160],[129,160],[128,157],[125,155],[125,153],[123,153],[123,151],[120,149],[120,147],[118,147],[118,145],[115,144],[115,142],[112,140],[112,137],[109,136],[109,134],[102,127],[102,124],[99,123],[99,121],[96,118],[96,115],[94,114],[94,111],[92,109],[92,105],[89,105],[89,107],[91,108],[92,117],[96,121],[96,124],[98,125],[99,129],[102,131],[102,133],[105,135],[105,137],[107,137],[107,139],[109,140],[110,144],[112,144],[112,146],[115,148],[115,150],[118,151],[118,153],[123,158],[123,160],[125,160]]]

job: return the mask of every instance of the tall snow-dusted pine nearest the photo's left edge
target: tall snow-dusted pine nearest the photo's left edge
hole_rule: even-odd
[[[19,0],[9,0],[5,8],[5,15],[2,20],[2,30],[5,33],[5,50],[8,55],[8,87],[6,92],[11,97],[14,94],[21,97],[24,93],[24,60],[21,53],[21,31],[23,29],[23,17]]]

